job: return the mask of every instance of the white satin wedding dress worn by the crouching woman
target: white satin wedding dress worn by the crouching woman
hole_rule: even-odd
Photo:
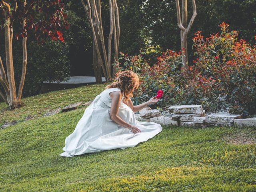
[[[116,148],[134,147],[162,131],[162,126],[154,122],[139,122],[130,107],[122,102],[118,116],[125,122],[141,130],[134,134],[128,128],[116,124],[110,119],[110,92],[121,91],[119,88],[108,88],[102,91],[86,108],[76,128],[65,140],[61,156],[72,157],[84,153],[100,152]]]

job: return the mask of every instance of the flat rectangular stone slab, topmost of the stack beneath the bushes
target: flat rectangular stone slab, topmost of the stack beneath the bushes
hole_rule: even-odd
[[[174,114],[202,114],[202,105],[173,105],[168,108],[170,113]]]

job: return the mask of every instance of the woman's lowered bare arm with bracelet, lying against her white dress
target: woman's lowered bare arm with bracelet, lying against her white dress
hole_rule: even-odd
[[[112,99],[111,108],[110,108],[110,118],[111,118],[111,120],[113,120],[114,122],[116,122],[120,126],[128,128],[129,130],[132,128],[131,132],[133,132],[133,133],[140,132],[140,129],[136,128],[135,126],[132,126],[131,124],[128,124],[127,122],[125,122],[124,120],[122,120],[118,116],[118,109],[119,109],[120,102],[121,102],[121,99],[122,99],[121,92],[120,91],[114,91],[114,92],[111,92],[109,95]]]

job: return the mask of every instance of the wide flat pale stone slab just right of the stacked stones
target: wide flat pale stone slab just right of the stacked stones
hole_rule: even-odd
[[[242,118],[242,115],[230,115],[229,113],[215,113],[205,116],[206,123],[232,123],[234,119]]]

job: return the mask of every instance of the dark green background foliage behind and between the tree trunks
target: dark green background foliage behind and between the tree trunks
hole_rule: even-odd
[[[24,96],[36,94],[43,81],[62,81],[67,76],[93,76],[92,34],[86,14],[80,1],[64,0],[70,29],[63,32],[65,43],[46,42],[37,45],[28,39],[28,74],[25,80]],[[173,0],[119,0],[120,9],[120,51],[129,55],[145,52],[144,58],[152,65],[167,49],[180,50],[180,30],[177,26],[176,6]],[[188,2],[188,18],[192,15],[192,4]],[[189,59],[192,52],[194,33],[202,31],[203,36],[218,30],[221,22],[230,24],[230,30],[237,30],[240,38],[253,44],[256,34],[255,0],[197,0],[198,15],[188,36]],[[102,0],[104,31],[109,32],[108,1]],[[108,36],[105,36],[106,38]],[[4,60],[4,38],[0,38],[0,54]],[[14,40],[15,68],[20,69],[22,59],[20,41]],[[33,51],[32,51],[33,50]],[[40,58],[40,59],[38,59]],[[192,64],[190,62],[190,64]],[[44,72],[42,70],[44,69]],[[19,73],[19,70],[17,71]]]

